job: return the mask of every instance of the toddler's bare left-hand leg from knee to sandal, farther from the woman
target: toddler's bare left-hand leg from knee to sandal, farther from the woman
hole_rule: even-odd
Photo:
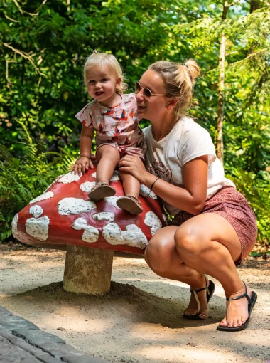
[[[103,145],[97,150],[97,161],[97,183],[109,184],[109,179],[120,161],[119,151],[113,146]]]

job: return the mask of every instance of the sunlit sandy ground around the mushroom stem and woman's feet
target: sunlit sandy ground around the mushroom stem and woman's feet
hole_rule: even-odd
[[[270,361],[270,259],[250,258],[239,274],[259,295],[247,330],[218,332],[225,313],[219,283],[210,317],[182,317],[188,286],[155,275],[140,258],[114,258],[102,298],[65,293],[65,253],[0,245],[0,304],[81,351],[110,362]]]

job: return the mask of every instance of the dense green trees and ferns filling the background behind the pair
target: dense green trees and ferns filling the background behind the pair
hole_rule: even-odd
[[[252,14],[249,1],[232,1],[225,21],[221,0],[70,3],[0,2],[0,65],[6,70],[0,73],[0,137],[6,147],[0,157],[1,238],[13,214],[77,155],[80,123],[74,115],[88,102],[85,57],[94,49],[114,53],[130,90],[153,61],[195,58],[202,75],[190,115],[216,140],[225,32],[225,170],[252,204],[259,238],[269,241],[269,1],[257,0],[261,7]]]

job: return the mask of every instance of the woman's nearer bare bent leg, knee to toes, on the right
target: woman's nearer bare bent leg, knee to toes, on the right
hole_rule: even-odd
[[[234,261],[241,256],[241,244],[231,224],[215,213],[200,214],[183,223],[175,232],[175,248],[186,265],[198,273],[207,273],[220,281],[225,295],[244,293]],[[248,294],[250,290],[247,288]],[[232,300],[228,323],[220,326],[241,326],[248,317],[247,299]]]

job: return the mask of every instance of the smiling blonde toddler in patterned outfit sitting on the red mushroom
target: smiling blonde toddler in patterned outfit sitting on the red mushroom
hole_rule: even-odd
[[[136,117],[135,94],[124,95],[127,85],[117,59],[95,51],[85,62],[84,78],[87,92],[94,100],[76,115],[82,122],[80,158],[71,169],[80,175],[92,168],[92,139],[94,129],[97,130],[97,184],[88,196],[99,201],[115,194],[109,180],[121,157],[131,154],[144,159],[146,143]],[[131,214],[141,213],[139,181],[128,172],[119,174],[126,196],[117,199],[117,206]]]

